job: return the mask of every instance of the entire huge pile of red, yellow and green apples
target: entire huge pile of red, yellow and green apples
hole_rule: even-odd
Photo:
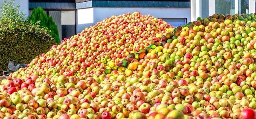
[[[256,119],[255,18],[106,18],[3,79],[0,118]]]

